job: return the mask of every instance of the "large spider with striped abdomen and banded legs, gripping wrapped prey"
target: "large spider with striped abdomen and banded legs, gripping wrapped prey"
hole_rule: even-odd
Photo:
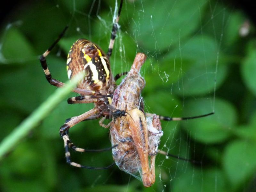
[[[66,156],[66,161],[68,164],[76,167],[83,167],[83,168],[88,168],[88,169],[107,169],[114,165],[115,163],[107,166],[107,167],[90,167],[90,166],[85,166],[81,164],[77,164],[75,162],[71,161],[70,158],[70,152],[69,148],[79,151],[79,152],[85,152],[85,151],[103,151],[103,150],[108,150],[110,148],[106,149],[100,149],[100,150],[87,150],[84,148],[78,148],[76,147],[70,140],[68,136],[68,130],[73,127],[74,125],[80,123],[81,121],[84,120],[91,120],[91,119],[100,119],[99,124],[105,128],[108,128],[111,125],[111,129],[113,126],[119,126],[116,124],[117,122],[120,123],[120,120],[122,118],[122,121],[127,117],[127,120],[131,120],[134,123],[136,122],[136,115],[138,116],[143,116],[147,115],[153,115],[153,114],[148,114],[145,113],[143,109],[138,109],[136,112],[133,111],[133,115],[130,115],[128,112],[126,112],[126,107],[127,105],[129,106],[129,103],[126,102],[126,107],[124,108],[119,108],[117,105],[112,105],[112,98],[113,94],[116,89],[116,84],[115,81],[120,78],[121,76],[127,74],[127,72],[117,74],[115,77],[112,76],[111,69],[110,69],[110,63],[109,59],[111,57],[112,49],[114,46],[115,38],[116,38],[116,33],[118,30],[118,21],[120,17],[120,13],[122,10],[122,4],[123,0],[120,1],[117,17],[115,19],[115,22],[113,24],[112,32],[111,32],[111,37],[110,37],[110,42],[108,46],[108,52],[105,54],[99,46],[96,44],[93,44],[92,42],[86,40],[86,39],[78,39],[70,48],[70,51],[68,53],[68,58],[67,58],[67,73],[68,73],[68,78],[72,79],[76,74],[78,74],[81,71],[85,72],[85,77],[84,79],[77,84],[77,87],[73,90],[73,92],[79,93],[80,96],[72,97],[68,99],[68,104],[75,104],[75,103],[94,103],[95,107],[82,115],[72,117],[66,121],[64,125],[60,127],[60,136],[64,140],[64,147],[65,147],[65,156]],[[57,87],[65,86],[64,83],[52,78],[52,75],[48,69],[47,63],[46,63],[46,57],[52,50],[52,48],[59,42],[60,38],[64,35],[65,31],[67,30],[68,27],[66,27],[60,36],[57,38],[57,40],[49,47],[49,49],[44,52],[44,54],[40,57],[40,62],[42,65],[42,68],[45,73],[45,77],[47,81]],[[135,58],[136,59],[136,58]],[[135,79],[136,81],[136,79]],[[144,87],[144,86],[143,86]],[[129,91],[129,87],[126,88],[127,91]],[[143,88],[141,88],[143,89]],[[137,99],[137,98],[136,98]],[[130,110],[130,109],[129,109]],[[128,116],[127,116],[128,114]],[[179,121],[179,120],[184,120],[184,119],[193,119],[193,118],[199,118],[203,116],[208,116],[213,113],[209,113],[206,115],[202,116],[194,116],[194,117],[177,117],[177,118],[172,118],[172,117],[165,117],[165,116],[159,116],[157,117],[160,120],[167,120],[167,121]],[[129,117],[130,116],[130,117]],[[110,122],[108,125],[103,124],[103,121],[106,118],[112,118],[113,121]],[[157,119],[155,118],[155,119]],[[134,120],[135,119],[135,120]],[[112,123],[112,124],[111,124]],[[131,123],[132,124],[132,123]],[[147,126],[146,128],[147,129]],[[134,129],[136,130],[136,129]],[[118,136],[118,135],[117,135]],[[129,140],[128,140],[129,141]],[[119,143],[123,143],[123,141],[118,141]],[[114,142],[114,145],[112,145],[112,149],[115,149],[119,146],[119,143]],[[133,142],[133,145],[136,145],[136,143],[133,139],[130,140],[129,142]],[[148,144],[146,144],[148,145]],[[148,148],[143,149],[144,152],[145,150],[148,150]],[[163,153],[164,152],[160,152]],[[145,152],[146,156],[149,154],[149,151]],[[156,155],[156,154],[154,154]],[[168,155],[168,154],[165,154]],[[116,161],[116,157],[113,155],[114,160]],[[146,157],[145,157],[146,158]],[[143,164],[143,166],[148,166],[145,165],[145,162],[141,161],[140,164]],[[120,164],[119,164],[120,165]],[[119,166],[118,165],[118,166]],[[120,167],[120,166],[119,166]],[[152,181],[150,181],[152,184]]]

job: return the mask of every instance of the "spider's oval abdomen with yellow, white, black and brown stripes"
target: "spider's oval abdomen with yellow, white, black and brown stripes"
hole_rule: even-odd
[[[67,59],[68,78],[84,70],[86,76],[77,85],[93,91],[108,89],[112,76],[109,61],[104,52],[86,39],[78,39],[70,48]]]

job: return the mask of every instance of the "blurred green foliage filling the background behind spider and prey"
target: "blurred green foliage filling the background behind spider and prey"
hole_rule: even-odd
[[[1,27],[1,140],[56,90],[45,80],[39,56],[67,24],[66,35],[47,57],[54,78],[67,80],[66,55],[76,39],[90,39],[107,50],[115,1],[98,3],[28,1],[12,10]],[[256,41],[252,23],[249,35],[239,35],[245,22],[243,12],[214,0],[124,1],[112,72],[129,70],[135,53],[144,52],[146,111],[165,116],[215,112],[162,123],[160,148],[201,165],[157,155],[151,188],[116,166],[99,171],[71,167],[65,163],[59,127],[93,105],[68,105],[65,99],[0,162],[0,190],[255,191]],[[79,147],[110,146],[108,130],[98,120],[77,124],[70,137]],[[71,155],[89,166],[113,162],[110,151]]]

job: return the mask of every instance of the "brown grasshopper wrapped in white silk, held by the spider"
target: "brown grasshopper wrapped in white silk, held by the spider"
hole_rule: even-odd
[[[146,117],[144,113],[140,95],[145,80],[140,68],[145,60],[143,53],[136,55],[131,70],[114,92],[112,106],[127,115],[112,119],[110,137],[112,146],[117,146],[112,148],[116,165],[134,176],[139,172],[143,185],[150,187],[155,182],[155,159],[163,131],[159,116]]]

